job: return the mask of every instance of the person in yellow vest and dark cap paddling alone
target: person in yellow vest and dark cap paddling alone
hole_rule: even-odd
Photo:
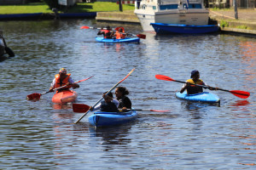
[[[211,88],[208,86],[205,82],[203,82],[200,79],[200,73],[197,70],[191,71],[191,77],[189,80],[186,81],[183,85],[183,88],[180,90],[180,93],[182,94],[185,90],[187,90],[187,94],[200,94],[203,92],[203,88],[200,86],[195,86],[193,84],[198,84],[202,86],[207,86],[209,87],[210,90],[213,90],[215,88]]]

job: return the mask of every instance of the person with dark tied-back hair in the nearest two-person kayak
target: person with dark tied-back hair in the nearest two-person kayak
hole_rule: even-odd
[[[131,109],[131,99],[129,99],[126,95],[129,94],[129,91],[125,87],[118,87],[115,89],[115,96],[119,101],[119,109],[126,110]]]

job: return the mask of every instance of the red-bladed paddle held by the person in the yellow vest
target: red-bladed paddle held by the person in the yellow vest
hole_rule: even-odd
[[[166,77],[164,75],[155,75],[155,78],[159,79],[159,80],[165,80],[165,81],[172,81],[172,82],[181,82],[181,81],[177,81],[177,80],[173,80],[171,77]],[[187,83],[187,82],[182,82],[182,83]],[[199,84],[192,84],[195,86],[200,86],[202,88],[211,88],[212,87],[207,87],[207,86],[203,86],[203,85],[199,85]],[[242,99],[247,99],[250,96],[250,93],[245,92],[245,91],[241,91],[241,90],[225,90],[222,88],[213,88],[215,90],[221,90],[224,92],[230,92],[231,94],[236,95],[236,97],[242,98]]]

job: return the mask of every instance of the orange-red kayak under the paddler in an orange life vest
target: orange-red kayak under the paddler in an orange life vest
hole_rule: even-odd
[[[78,94],[73,90],[66,90],[62,91],[60,93],[55,94],[52,97],[52,102],[56,104],[63,104],[63,103],[69,103],[73,102],[75,99],[77,99]]]

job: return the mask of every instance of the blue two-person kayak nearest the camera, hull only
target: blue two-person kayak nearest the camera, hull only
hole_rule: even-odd
[[[96,127],[107,127],[131,122],[137,118],[137,111],[127,112],[95,112],[89,116],[90,125]]]

